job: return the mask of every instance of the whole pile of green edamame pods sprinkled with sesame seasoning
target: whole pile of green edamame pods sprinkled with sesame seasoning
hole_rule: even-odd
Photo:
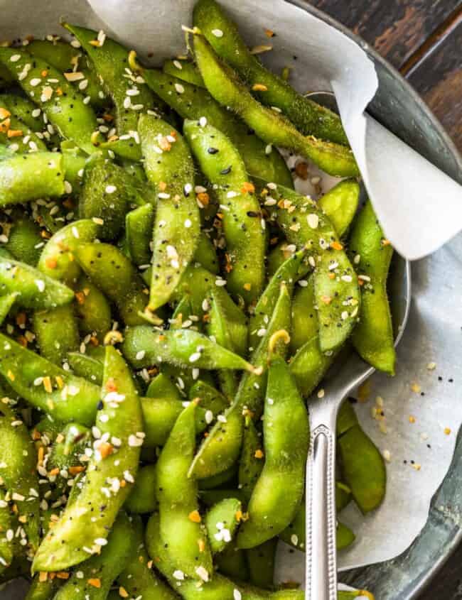
[[[215,0],[193,18],[163,69],[68,23],[0,48],[0,579],[29,599],[303,598],[273,567],[304,547],[306,400],[347,343],[394,373],[340,119]],[[297,193],[279,148],[341,181]],[[385,480],[345,403],[338,512]]]

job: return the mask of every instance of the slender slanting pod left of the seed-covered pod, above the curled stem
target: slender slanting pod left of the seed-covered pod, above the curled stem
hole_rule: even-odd
[[[262,293],[255,306],[254,314],[250,317],[249,347],[251,351],[258,347],[267,331],[274,307],[279,298],[281,283],[284,283],[291,293],[296,280],[305,276],[309,268],[306,251],[301,249],[289,256],[269,280],[264,293]]]

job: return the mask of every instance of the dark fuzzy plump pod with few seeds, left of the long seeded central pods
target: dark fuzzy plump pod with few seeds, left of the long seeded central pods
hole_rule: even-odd
[[[133,200],[127,174],[109,158],[89,160],[83,176],[79,209],[83,219],[102,219],[102,239],[116,239],[124,227],[125,214]]]

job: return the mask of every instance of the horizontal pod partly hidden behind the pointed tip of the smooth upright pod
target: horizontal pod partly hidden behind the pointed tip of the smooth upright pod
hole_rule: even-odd
[[[141,398],[144,417],[144,447],[154,449],[163,446],[168,440],[173,425],[183,411],[184,405],[180,398],[159,396]],[[198,433],[207,427],[205,410],[198,408],[195,413],[195,429]]]

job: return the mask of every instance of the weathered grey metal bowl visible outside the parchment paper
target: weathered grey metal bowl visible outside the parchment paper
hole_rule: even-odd
[[[462,158],[439,121],[426,107],[419,95],[364,40],[306,0],[289,0],[299,8],[321,18],[329,25],[355,40],[373,60],[379,89],[368,111],[387,129],[407,142],[416,151],[462,184]],[[437,200],[436,200],[437,202]],[[461,236],[451,241],[433,256],[413,264],[412,285],[417,295],[428,286],[434,268],[448,257],[461,261]],[[456,290],[453,302],[456,302]],[[413,307],[414,312],[418,312]],[[418,315],[414,315],[418,319]],[[419,537],[399,557],[388,562],[353,569],[342,580],[370,589],[380,600],[411,600],[434,577],[439,568],[462,541],[462,440],[458,437],[451,467],[431,503],[429,518]]]

